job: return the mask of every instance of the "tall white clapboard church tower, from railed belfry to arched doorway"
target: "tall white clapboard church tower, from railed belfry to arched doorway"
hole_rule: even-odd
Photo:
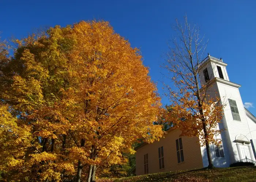
[[[230,163],[244,158],[253,159],[254,157],[249,142],[252,135],[239,92],[241,85],[230,82],[226,66],[227,64],[222,59],[214,58],[208,54],[199,63],[198,73],[201,85],[208,84],[208,93],[212,96],[218,96],[221,99],[221,104],[225,105],[222,123],[219,123],[218,127],[224,129],[221,132],[221,139],[225,163],[228,167]],[[214,155],[214,151],[212,151],[212,155]],[[214,157],[216,156],[212,156],[212,158]],[[219,159],[214,158],[214,160],[218,161]]]

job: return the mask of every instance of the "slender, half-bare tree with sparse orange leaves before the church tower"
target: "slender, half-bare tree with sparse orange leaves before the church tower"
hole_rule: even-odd
[[[223,105],[211,88],[211,82],[200,84],[199,65],[204,58],[206,45],[199,36],[199,29],[190,26],[187,17],[184,26],[177,21],[174,37],[163,65],[173,76],[170,78],[176,89],[167,86],[167,95],[172,104],[168,106],[165,120],[172,122],[174,128],[180,128],[181,135],[197,136],[201,146],[206,146],[208,168],[212,168],[210,144],[220,145],[216,138],[221,130],[218,123],[222,119]]]

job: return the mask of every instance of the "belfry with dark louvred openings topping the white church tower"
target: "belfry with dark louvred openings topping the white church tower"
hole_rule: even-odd
[[[206,84],[214,78],[220,78],[229,81],[229,76],[226,70],[227,64],[223,62],[222,58],[214,58],[208,53],[208,56],[199,63],[199,79],[201,84]]]

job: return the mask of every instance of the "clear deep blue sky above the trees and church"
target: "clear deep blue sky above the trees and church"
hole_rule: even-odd
[[[36,28],[56,24],[65,26],[80,20],[110,21],[117,33],[139,47],[150,76],[160,82],[159,64],[174,34],[175,19],[187,13],[189,21],[201,28],[209,39],[207,52],[222,57],[228,64],[231,82],[241,84],[243,102],[253,103],[248,110],[256,115],[256,1],[205,0],[0,0],[2,39],[21,38]],[[159,93],[163,91],[158,84]],[[168,103],[166,98],[162,103]]]

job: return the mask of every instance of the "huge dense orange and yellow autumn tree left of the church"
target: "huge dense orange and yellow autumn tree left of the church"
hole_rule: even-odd
[[[56,26],[16,43],[1,64],[0,99],[30,128],[27,179],[95,181],[96,169],[125,162],[138,138],[162,136],[153,125],[160,99],[142,56],[108,22]]]

